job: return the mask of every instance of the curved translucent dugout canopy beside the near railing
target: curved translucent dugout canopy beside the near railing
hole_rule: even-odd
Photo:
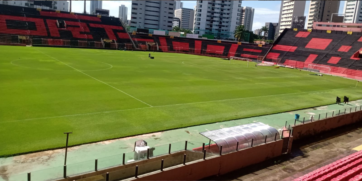
[[[277,129],[261,122],[205,131],[200,132],[200,134],[215,142],[219,149],[222,145],[222,153],[236,151],[237,142],[239,142],[238,150],[240,150],[251,147],[252,139],[254,139],[253,146],[263,144],[265,142],[265,136],[266,143],[273,142],[275,134],[277,134],[277,140],[280,139]]]

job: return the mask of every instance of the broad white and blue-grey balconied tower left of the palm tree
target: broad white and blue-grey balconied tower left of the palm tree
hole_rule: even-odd
[[[210,34],[218,39],[234,39],[240,25],[241,1],[196,1],[194,34]]]

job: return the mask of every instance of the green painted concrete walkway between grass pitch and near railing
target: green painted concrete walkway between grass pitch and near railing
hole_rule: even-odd
[[[350,109],[348,108],[360,105],[362,105],[362,100],[349,102],[348,105],[334,104],[312,109],[218,122],[208,125],[193,126],[184,129],[157,132],[153,134],[71,147],[68,148],[67,175],[94,170],[94,159],[98,159],[98,168],[105,168],[112,165],[122,164],[122,154],[129,152],[126,154],[126,160],[132,159],[134,143],[139,139],[146,140],[148,146],[150,147],[156,147],[154,155],[157,156],[168,152],[169,143],[172,143],[172,151],[184,149],[185,140],[188,140],[189,148],[202,146],[203,142],[208,143],[209,140],[200,135],[199,132],[244,125],[253,122],[262,122],[269,126],[275,127],[276,129],[281,129],[282,126],[285,126],[286,121],[288,121],[290,124],[294,124],[294,114],[300,114],[300,120],[302,120],[303,117],[309,118],[311,115],[315,117],[314,119],[317,119],[319,114],[325,117],[325,113],[327,112],[330,112],[328,117],[332,116],[332,111],[335,111],[334,114],[336,114],[338,110],[341,110],[342,113],[346,109],[346,112],[349,113]],[[71,135],[69,142],[72,142]],[[28,172],[31,172],[31,180],[51,180],[62,177],[64,152],[65,149],[58,149],[8,158],[0,158],[0,181],[26,180],[26,173]]]

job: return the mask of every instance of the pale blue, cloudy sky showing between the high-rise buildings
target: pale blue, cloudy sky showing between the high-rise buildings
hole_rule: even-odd
[[[196,1],[182,1],[184,3],[184,8],[193,9],[196,5]],[[118,17],[118,7],[121,4],[128,7],[128,19],[131,17],[131,4],[132,1],[103,1],[102,8],[109,9],[110,15]],[[265,25],[265,22],[278,22],[279,10],[280,10],[281,1],[243,1],[242,6],[248,6],[255,9],[254,20],[253,20],[253,30],[261,28]],[[304,10],[304,16],[308,16],[310,1],[306,1],[306,8]],[[83,1],[72,1],[72,11],[73,12],[83,12]],[[343,12],[344,1],[340,3],[339,13]],[[89,1],[86,4],[86,10],[89,12]]]

